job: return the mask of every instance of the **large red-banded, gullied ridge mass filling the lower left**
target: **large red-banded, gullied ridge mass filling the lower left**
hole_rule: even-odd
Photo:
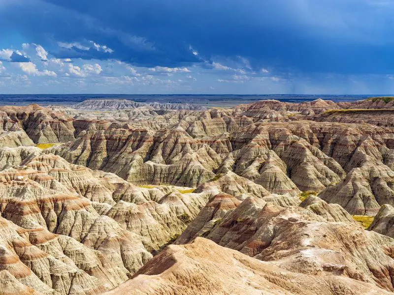
[[[82,295],[116,287],[208,201],[176,188],[139,188],[39,148],[0,155],[0,272],[18,282],[9,290]]]

